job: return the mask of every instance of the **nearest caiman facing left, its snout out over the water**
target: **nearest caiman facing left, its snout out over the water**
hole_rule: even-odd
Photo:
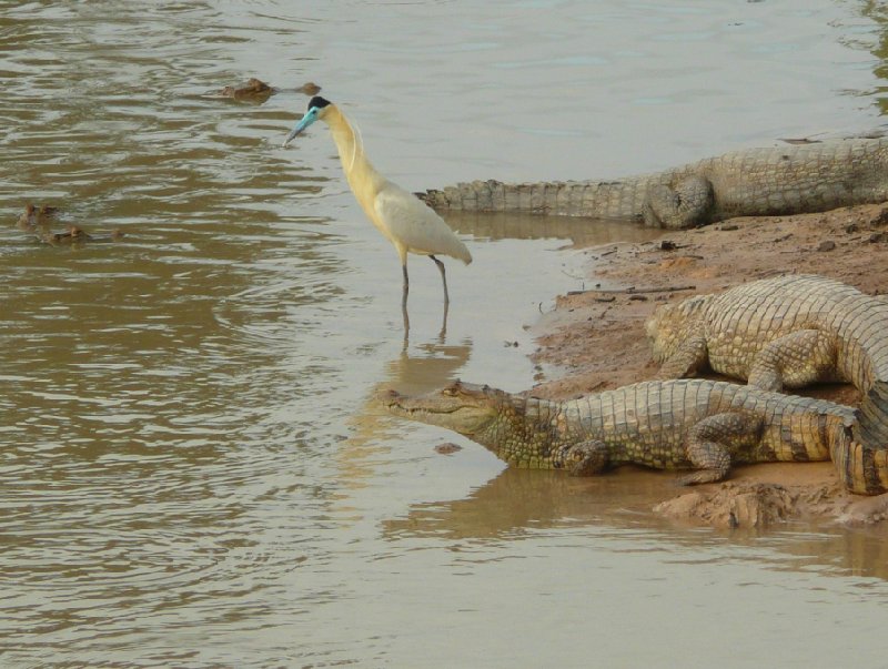
[[[644,382],[566,402],[457,381],[414,397],[389,391],[382,403],[509,465],[575,476],[636,464],[696,469],[678,480],[692,485],[724,479],[735,463],[862,460],[852,408],[720,381]]]

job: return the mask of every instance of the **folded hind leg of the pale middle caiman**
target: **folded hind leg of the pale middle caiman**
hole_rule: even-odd
[[[768,343],[749,368],[750,386],[780,392],[836,378],[836,341],[819,330],[799,330]]]

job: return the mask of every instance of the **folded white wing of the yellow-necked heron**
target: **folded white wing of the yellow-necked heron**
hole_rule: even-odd
[[[444,219],[413,193],[387,182],[376,194],[374,207],[392,242],[403,244],[411,253],[442,253],[471,261],[465,245]]]

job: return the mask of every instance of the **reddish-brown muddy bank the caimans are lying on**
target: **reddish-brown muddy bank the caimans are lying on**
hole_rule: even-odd
[[[669,232],[657,242],[613,243],[586,253],[586,290],[559,296],[535,326],[534,362],[554,366],[548,376],[557,377],[537,386],[535,395],[568,398],[652,378],[657,365],[644,322],[666,301],[793,272],[823,274],[870,294],[888,292],[888,205],[733,219]],[[846,385],[803,394],[859,401]],[[831,463],[764,464],[737,467],[727,482],[676,488],[654,511],[676,523],[717,527],[789,519],[866,525],[888,517],[888,494],[846,493]]]

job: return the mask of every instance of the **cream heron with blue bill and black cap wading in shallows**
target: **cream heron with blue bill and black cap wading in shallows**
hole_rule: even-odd
[[[401,257],[401,268],[404,274],[404,290],[402,306],[406,310],[410,277],[407,276],[407,253],[427,255],[441,272],[444,284],[444,305],[450,303],[447,294],[447,276],[444,263],[437,255],[450,255],[463,261],[466,265],[472,262],[472,254],[465,244],[454,234],[453,230],[418,197],[392,183],[380,174],[364,154],[361,136],[355,132],[349,119],[340,109],[315,95],[309,101],[309,111],[296,123],[295,128],[286,135],[283,145],[286,146],[293,138],[317,120],[324,121],[333,134],[333,141],[340,153],[342,169],[349,181],[357,203],[376,229],[394,244]],[[406,323],[406,311],[404,312]]]

